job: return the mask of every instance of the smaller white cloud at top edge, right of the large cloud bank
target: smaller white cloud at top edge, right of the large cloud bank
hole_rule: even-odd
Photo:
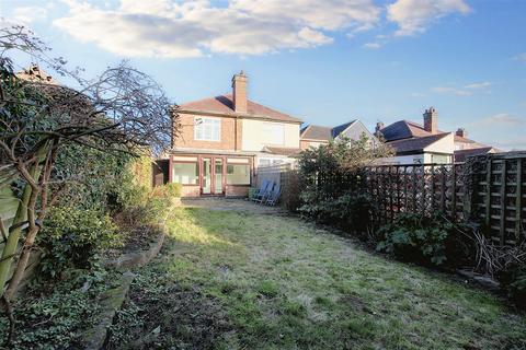
[[[438,19],[471,11],[464,0],[398,0],[387,7],[387,19],[397,23],[396,36],[423,33]]]

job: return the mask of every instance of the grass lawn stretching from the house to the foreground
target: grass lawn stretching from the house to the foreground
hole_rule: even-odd
[[[298,218],[186,208],[108,349],[522,349],[526,318]]]

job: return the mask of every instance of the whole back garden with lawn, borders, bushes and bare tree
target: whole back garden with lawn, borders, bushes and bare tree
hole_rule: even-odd
[[[279,208],[191,208],[151,187],[178,130],[150,77],[85,79],[23,27],[0,44],[2,348],[526,348],[524,231],[495,245],[446,211],[379,220],[381,143],[304,151]],[[21,55],[75,89],[22,79]]]

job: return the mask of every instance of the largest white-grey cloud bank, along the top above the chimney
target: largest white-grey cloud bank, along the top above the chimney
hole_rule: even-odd
[[[330,44],[330,33],[371,27],[380,9],[371,0],[121,0],[102,8],[65,0],[54,25],[119,56],[197,57],[209,52],[261,55]]]

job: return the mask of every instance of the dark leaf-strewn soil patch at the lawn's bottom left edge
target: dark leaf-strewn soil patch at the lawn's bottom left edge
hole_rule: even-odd
[[[126,319],[129,311],[139,322]],[[153,292],[133,288],[113,327],[121,335],[111,336],[105,347],[108,350],[156,349],[160,345],[169,349],[213,349],[217,339],[232,330],[217,301],[176,283]]]

